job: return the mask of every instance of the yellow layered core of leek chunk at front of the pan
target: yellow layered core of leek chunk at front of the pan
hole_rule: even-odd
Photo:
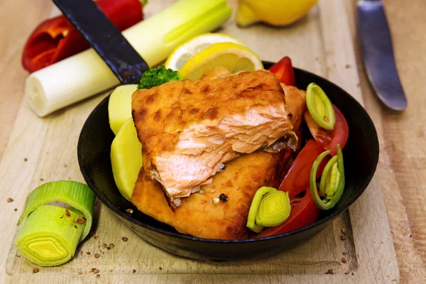
[[[263,196],[256,215],[256,224],[278,226],[290,216],[290,198],[288,192],[274,190]]]

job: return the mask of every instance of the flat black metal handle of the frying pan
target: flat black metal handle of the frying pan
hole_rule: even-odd
[[[121,84],[137,83],[149,69],[129,41],[92,0],[53,0],[107,63]]]

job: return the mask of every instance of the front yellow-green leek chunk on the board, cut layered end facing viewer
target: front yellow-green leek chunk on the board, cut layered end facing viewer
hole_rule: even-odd
[[[79,223],[82,212],[74,208],[42,205],[22,226],[15,245],[21,256],[39,266],[58,266],[74,256],[87,226]]]

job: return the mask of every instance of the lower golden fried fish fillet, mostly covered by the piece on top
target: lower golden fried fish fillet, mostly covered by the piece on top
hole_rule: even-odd
[[[298,133],[305,111],[305,92],[285,85],[283,89]],[[131,202],[144,214],[183,234],[205,239],[246,239],[249,236],[247,215],[256,190],[264,185],[278,187],[290,167],[292,156],[293,151],[289,148],[279,153],[257,151],[242,155],[214,175],[211,184],[203,185],[200,192],[182,199],[182,204],[174,212],[161,185],[141,169]],[[213,198],[221,193],[227,196],[227,201],[214,204]]]

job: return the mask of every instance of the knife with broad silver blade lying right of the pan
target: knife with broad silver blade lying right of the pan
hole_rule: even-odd
[[[391,33],[381,0],[359,0],[358,31],[364,65],[373,88],[387,107],[400,111],[407,107],[401,85]]]

